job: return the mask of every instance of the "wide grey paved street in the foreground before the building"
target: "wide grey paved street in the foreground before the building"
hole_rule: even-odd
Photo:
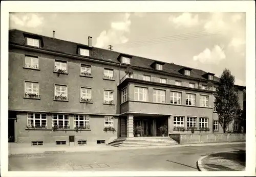
[[[91,151],[9,157],[10,171],[198,171],[196,162],[220,151],[245,150],[245,144]]]

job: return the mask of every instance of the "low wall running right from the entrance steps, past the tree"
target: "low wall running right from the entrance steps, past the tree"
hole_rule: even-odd
[[[225,134],[169,134],[180,144],[245,141],[244,133]]]

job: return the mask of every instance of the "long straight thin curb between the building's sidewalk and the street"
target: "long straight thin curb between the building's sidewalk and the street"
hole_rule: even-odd
[[[221,142],[215,144],[197,143],[197,144],[177,144],[177,145],[163,145],[163,146],[137,146],[137,147],[114,147],[110,149],[97,149],[97,150],[79,150],[79,151],[67,151],[67,150],[54,150],[54,151],[44,151],[39,153],[23,153],[23,154],[9,154],[8,157],[22,157],[22,156],[46,156],[52,154],[70,154],[70,153],[87,153],[87,152],[97,152],[97,151],[112,151],[112,150],[133,150],[133,149],[151,149],[151,148],[174,148],[174,147],[194,147],[194,146],[212,146],[212,145],[228,145],[228,144],[245,144],[245,142]],[[201,159],[201,158],[200,158]],[[201,159],[202,160],[202,159]]]

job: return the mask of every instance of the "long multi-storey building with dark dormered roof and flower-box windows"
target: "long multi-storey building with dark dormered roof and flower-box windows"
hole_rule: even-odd
[[[190,127],[222,133],[218,85],[214,73],[96,48],[91,37],[84,45],[10,30],[8,136],[45,145],[108,143],[135,136],[137,125],[143,136],[161,136],[162,125],[166,136]],[[245,87],[236,87],[243,108]],[[238,122],[227,127],[236,129]]]

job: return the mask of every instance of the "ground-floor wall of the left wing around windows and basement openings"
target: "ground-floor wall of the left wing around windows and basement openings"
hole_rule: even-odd
[[[119,133],[118,124],[119,118],[114,117],[114,128],[117,130],[115,133],[104,132],[104,116],[90,116],[90,129],[79,130],[76,132],[73,128],[74,119],[73,115],[70,117],[70,130],[53,131],[51,129],[33,130],[26,129],[27,113],[21,112],[17,115],[16,122],[16,142],[17,143],[31,143],[31,141],[43,141],[44,144],[55,144],[55,141],[67,141],[69,144],[69,136],[75,136],[75,144],[77,140],[87,140],[87,144],[96,144],[97,140],[105,140],[105,143],[113,141],[117,138]],[[47,115],[47,127],[51,128],[51,114]]]

